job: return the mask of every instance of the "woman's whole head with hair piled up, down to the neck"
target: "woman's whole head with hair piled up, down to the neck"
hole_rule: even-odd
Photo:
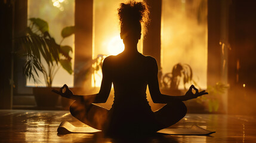
[[[121,23],[121,39],[137,41],[141,36],[141,23],[147,20],[147,7],[143,2],[129,1],[118,8]]]

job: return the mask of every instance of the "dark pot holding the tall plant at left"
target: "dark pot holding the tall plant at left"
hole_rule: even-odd
[[[59,95],[52,92],[53,89],[58,88],[33,88],[33,95],[39,108],[55,107]]]

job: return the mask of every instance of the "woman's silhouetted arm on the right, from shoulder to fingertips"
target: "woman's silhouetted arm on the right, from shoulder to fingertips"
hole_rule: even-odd
[[[158,64],[156,63],[155,58],[150,57],[150,69],[149,69],[149,92],[153,102],[155,103],[169,103],[173,101],[186,101],[193,98],[197,98],[199,96],[208,94],[205,91],[198,92],[198,89],[195,88],[194,85],[190,86],[189,90],[183,96],[170,96],[161,94],[159,90],[159,83],[158,83]],[[193,94],[192,89],[195,89],[196,93]]]

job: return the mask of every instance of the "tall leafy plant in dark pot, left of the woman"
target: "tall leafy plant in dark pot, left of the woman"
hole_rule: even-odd
[[[47,88],[33,88],[38,107],[54,107],[58,96],[51,92],[52,83],[59,67],[72,74],[72,48],[69,45],[61,45],[63,40],[72,35],[75,27],[64,27],[61,31],[62,40],[55,42],[49,33],[48,23],[41,18],[30,18],[30,24],[26,29],[26,36],[18,38],[21,43],[22,55],[26,58],[23,67],[24,76],[38,82],[39,74],[44,75]]]

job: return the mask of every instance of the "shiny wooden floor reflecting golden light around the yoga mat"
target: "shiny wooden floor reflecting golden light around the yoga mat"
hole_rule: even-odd
[[[63,120],[82,125],[68,111],[0,110],[0,120],[0,142],[256,142],[256,116],[187,114],[171,128],[198,125],[216,133],[210,136],[156,133],[146,138],[126,139],[109,138],[102,133],[58,135],[57,128]]]

